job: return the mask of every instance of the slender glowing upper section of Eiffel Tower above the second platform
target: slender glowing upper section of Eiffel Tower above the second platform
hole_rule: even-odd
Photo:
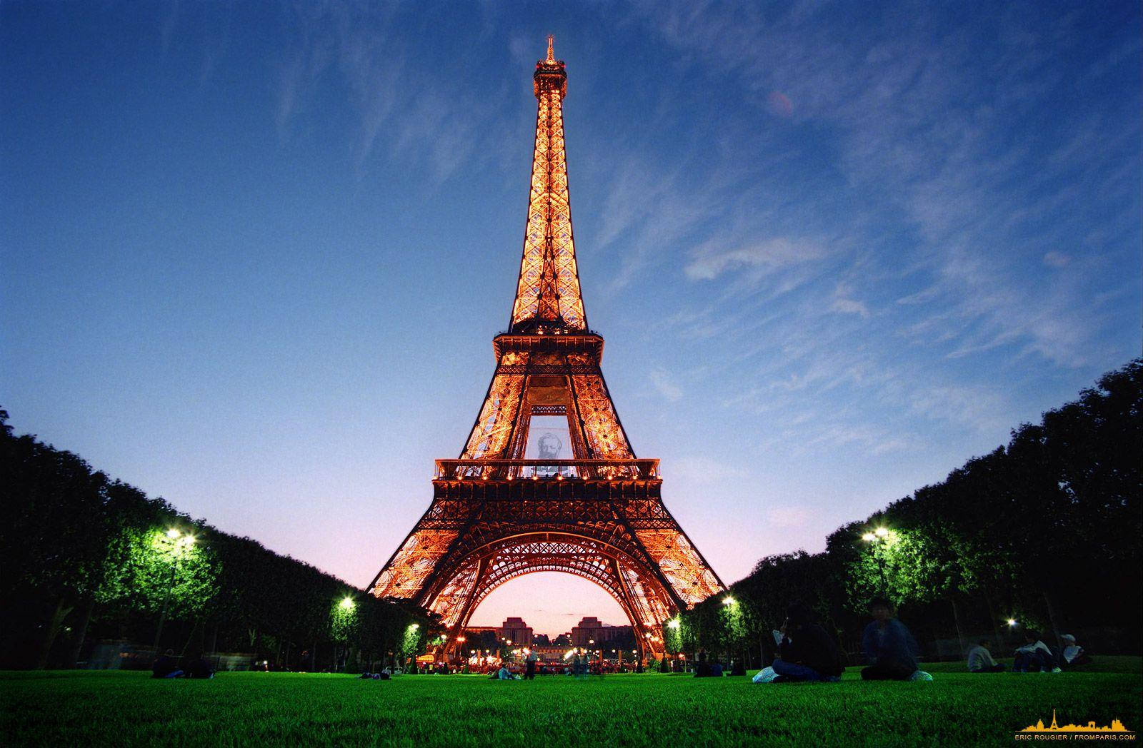
[[[580,271],[572,238],[563,110],[567,72],[555,59],[552,37],[547,58],[531,77],[538,100],[536,145],[531,159],[531,191],[523,232],[520,280],[512,305],[510,330],[525,335],[568,335],[588,330],[580,293]]]

